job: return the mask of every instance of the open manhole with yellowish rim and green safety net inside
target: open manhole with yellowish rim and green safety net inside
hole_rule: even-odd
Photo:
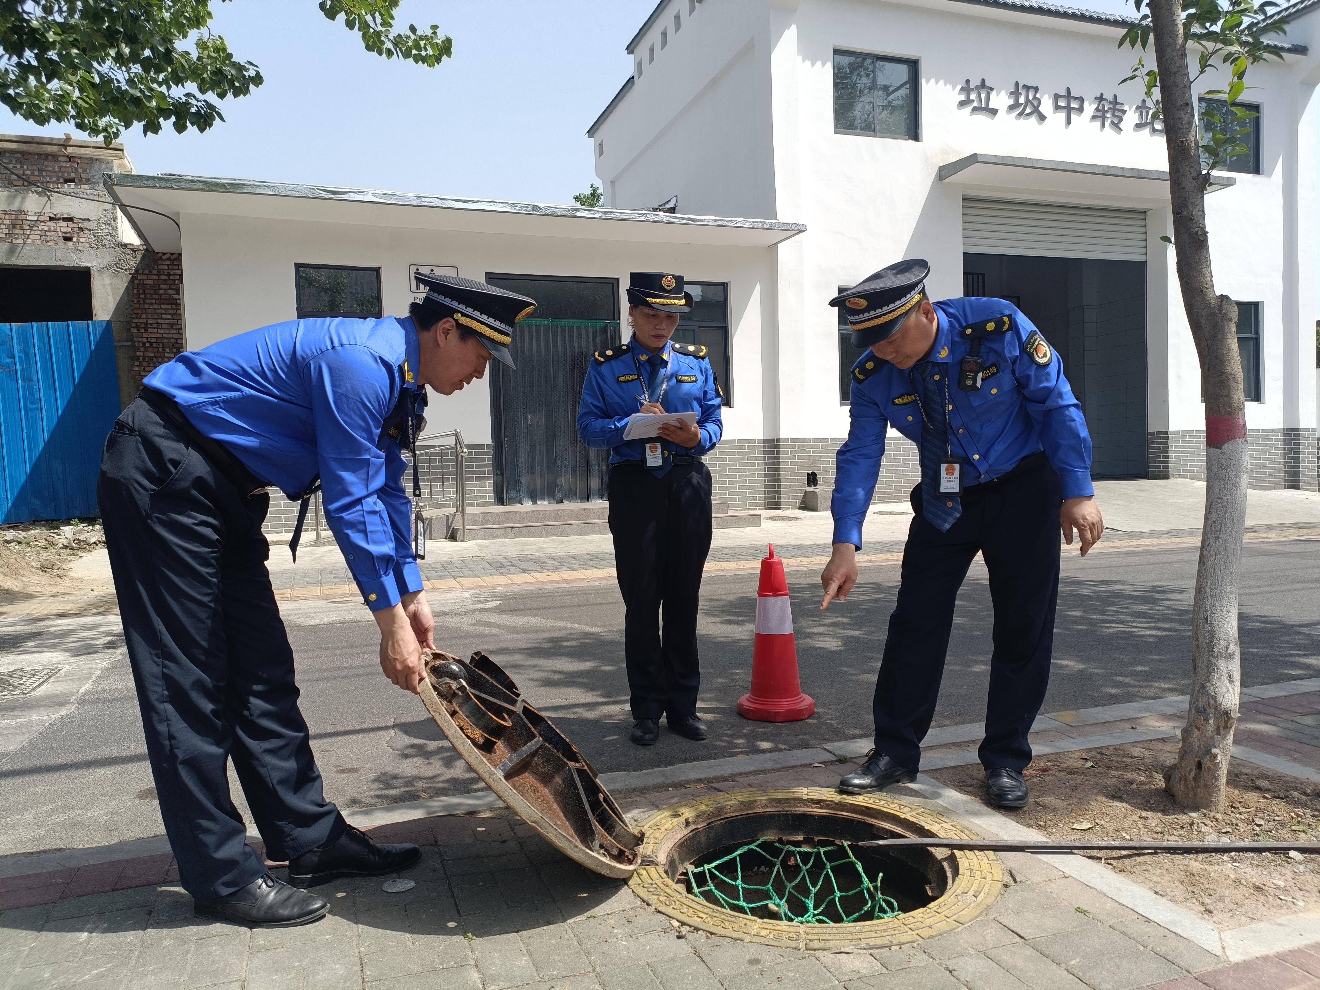
[[[966,924],[998,896],[991,853],[876,850],[879,838],[972,838],[884,796],[820,788],[711,795],[642,824],[634,892],[715,935],[800,949],[884,946]]]

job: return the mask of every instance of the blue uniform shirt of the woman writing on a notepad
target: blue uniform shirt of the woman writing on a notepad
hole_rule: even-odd
[[[578,434],[589,447],[611,447],[610,463],[644,461],[644,440],[624,442],[623,430],[628,418],[642,408],[640,375],[651,381],[656,362],[664,368],[668,385],[664,393],[665,412],[696,414],[701,441],[694,447],[680,447],[661,441],[664,457],[677,454],[706,454],[714,449],[723,433],[722,401],[715,384],[715,372],[705,358],[706,348],[685,343],[667,343],[659,354],[648,354],[632,343],[597,351],[582,383],[582,403],[578,407]],[[659,392],[651,389],[652,400]],[[667,471],[668,465],[664,466]]]

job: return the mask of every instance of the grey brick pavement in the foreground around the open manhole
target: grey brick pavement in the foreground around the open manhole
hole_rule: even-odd
[[[626,795],[620,804],[644,816],[706,788],[829,785],[840,772],[803,767]],[[194,919],[162,857],[53,871],[42,903],[0,913],[0,987],[1135,990],[1192,978],[1212,982],[1185,983],[1191,990],[1239,986],[1213,982],[1232,970],[1218,957],[1027,854],[1005,855],[1006,888],[965,928],[895,949],[818,953],[680,928],[504,810],[372,834],[425,847],[407,873],[417,886],[385,894],[380,879],[329,884],[319,892],[330,915],[293,929]],[[145,876],[152,882],[125,886]],[[32,876],[0,883],[4,896],[42,890]]]

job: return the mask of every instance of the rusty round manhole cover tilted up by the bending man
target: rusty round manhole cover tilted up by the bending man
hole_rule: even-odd
[[[432,653],[421,698],[482,781],[556,849],[606,876],[631,876],[642,834],[595,768],[484,653]]]

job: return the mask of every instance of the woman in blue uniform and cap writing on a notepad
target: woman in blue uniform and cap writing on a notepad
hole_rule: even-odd
[[[661,715],[671,730],[700,742],[706,726],[697,715],[697,609],[710,550],[710,470],[701,458],[723,430],[721,395],[706,348],[669,339],[680,314],[692,310],[681,275],[632,272],[628,304],[632,339],[597,351],[582,385],[578,433],[589,447],[610,447],[610,533],[626,607],[632,742],[653,744]],[[690,416],[624,440],[634,414],[667,412]]]

